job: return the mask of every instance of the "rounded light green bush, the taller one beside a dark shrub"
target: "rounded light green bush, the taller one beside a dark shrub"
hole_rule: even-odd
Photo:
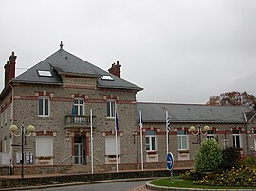
[[[195,171],[214,172],[220,169],[223,161],[222,149],[215,139],[206,139],[196,151]]]

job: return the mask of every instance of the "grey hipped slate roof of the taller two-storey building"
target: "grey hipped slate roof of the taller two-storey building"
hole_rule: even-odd
[[[38,70],[49,70],[52,74],[52,77],[39,76]],[[116,77],[115,75],[102,70],[92,63],[83,61],[82,59],[65,51],[63,48],[47,57],[44,61],[34,65],[18,77],[11,79],[11,81],[61,85],[63,84],[61,78],[62,74],[80,77],[96,77],[98,78],[98,87],[102,88],[132,89],[137,91],[142,90],[142,88],[133,83]],[[103,75],[111,76],[113,80],[102,80],[100,77]]]

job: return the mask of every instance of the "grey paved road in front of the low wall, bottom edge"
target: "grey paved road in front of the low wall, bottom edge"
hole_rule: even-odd
[[[144,185],[148,181],[137,182],[106,182],[98,184],[84,184],[54,188],[34,189],[32,191],[73,191],[73,190],[90,190],[90,191],[140,191],[147,190]],[[31,191],[31,190],[29,190]]]

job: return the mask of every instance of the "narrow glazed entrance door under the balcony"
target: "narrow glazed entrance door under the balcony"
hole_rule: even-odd
[[[83,164],[83,141],[82,136],[75,137],[74,142],[74,164]]]

